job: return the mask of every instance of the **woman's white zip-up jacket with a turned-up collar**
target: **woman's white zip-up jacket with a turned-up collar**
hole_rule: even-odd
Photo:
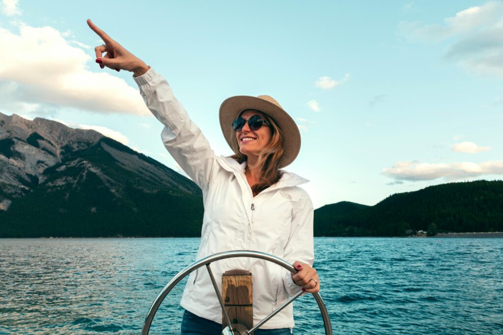
[[[215,156],[162,76],[150,68],[133,78],[147,107],[165,126],[161,138],[167,151],[203,191],[204,218],[197,259],[222,251],[253,250],[312,266],[313,205],[306,191],[298,187],[308,180],[283,171],[276,184],[254,197],[244,175],[246,163]],[[220,291],[223,272],[251,271],[254,324],[301,289],[290,272],[267,261],[232,258],[210,266]],[[190,274],[180,304],[196,315],[222,323],[220,304],[204,267]],[[290,304],[261,328],[293,327],[292,308]]]

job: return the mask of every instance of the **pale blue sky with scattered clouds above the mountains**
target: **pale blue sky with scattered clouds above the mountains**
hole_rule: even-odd
[[[95,129],[181,171],[132,73],[87,19],[164,76],[218,155],[218,109],[274,97],[314,207],[503,175],[503,1],[16,1],[0,9],[0,111]]]

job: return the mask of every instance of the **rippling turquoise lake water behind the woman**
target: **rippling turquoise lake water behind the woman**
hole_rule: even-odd
[[[0,333],[137,334],[199,239],[0,240]],[[334,333],[503,333],[503,239],[316,238]],[[180,332],[185,281],[151,334]],[[323,334],[312,296],[297,334]]]

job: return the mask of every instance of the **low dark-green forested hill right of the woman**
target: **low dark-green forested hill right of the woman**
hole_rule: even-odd
[[[430,186],[374,206],[339,202],[314,211],[315,236],[406,236],[416,231],[503,231],[503,181]]]

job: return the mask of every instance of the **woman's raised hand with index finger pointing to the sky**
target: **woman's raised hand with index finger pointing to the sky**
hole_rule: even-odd
[[[88,20],[89,27],[101,37],[105,44],[95,48],[96,62],[103,69],[105,66],[117,71],[127,70],[134,73],[134,76],[141,76],[148,71],[147,66],[141,59],[127,51],[122,45],[115,42],[103,30],[98,28],[91,20]],[[103,56],[103,53],[106,54]]]

